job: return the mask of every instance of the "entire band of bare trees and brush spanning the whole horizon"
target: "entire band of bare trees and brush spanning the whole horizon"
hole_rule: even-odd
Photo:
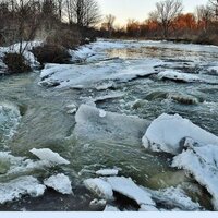
[[[195,13],[183,13],[182,0],[160,0],[146,21],[129,20],[122,27],[114,26],[113,15],[102,17],[96,0],[0,0],[0,45],[36,37],[48,37],[58,43],[58,38],[62,38],[58,35],[72,36],[75,46],[96,36],[154,39],[216,37],[218,0],[198,5]]]

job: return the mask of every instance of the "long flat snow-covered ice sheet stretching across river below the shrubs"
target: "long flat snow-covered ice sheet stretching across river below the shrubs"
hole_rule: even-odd
[[[156,74],[155,66],[162,62],[158,59],[131,61],[105,61],[92,64],[46,64],[40,73],[39,85],[60,84],[58,88],[82,86],[99,90],[113,86],[113,83],[128,82],[138,76]],[[110,81],[107,84],[107,81]],[[102,84],[98,86],[98,84]],[[50,85],[51,86],[51,85]]]

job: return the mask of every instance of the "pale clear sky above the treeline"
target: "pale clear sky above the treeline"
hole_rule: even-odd
[[[157,0],[97,0],[101,13],[116,16],[116,24],[123,25],[129,19],[144,21],[155,10]],[[208,0],[183,0],[184,12],[194,12],[196,5],[206,4]]]

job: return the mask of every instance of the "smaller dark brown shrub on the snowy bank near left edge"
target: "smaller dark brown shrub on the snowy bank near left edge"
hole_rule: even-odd
[[[3,62],[10,73],[24,73],[32,70],[23,55],[20,53],[5,53]]]

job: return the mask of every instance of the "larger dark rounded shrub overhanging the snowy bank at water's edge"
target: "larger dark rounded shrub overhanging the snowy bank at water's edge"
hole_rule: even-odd
[[[69,63],[71,59],[68,49],[53,44],[45,44],[44,46],[35,47],[32,52],[40,64]]]

